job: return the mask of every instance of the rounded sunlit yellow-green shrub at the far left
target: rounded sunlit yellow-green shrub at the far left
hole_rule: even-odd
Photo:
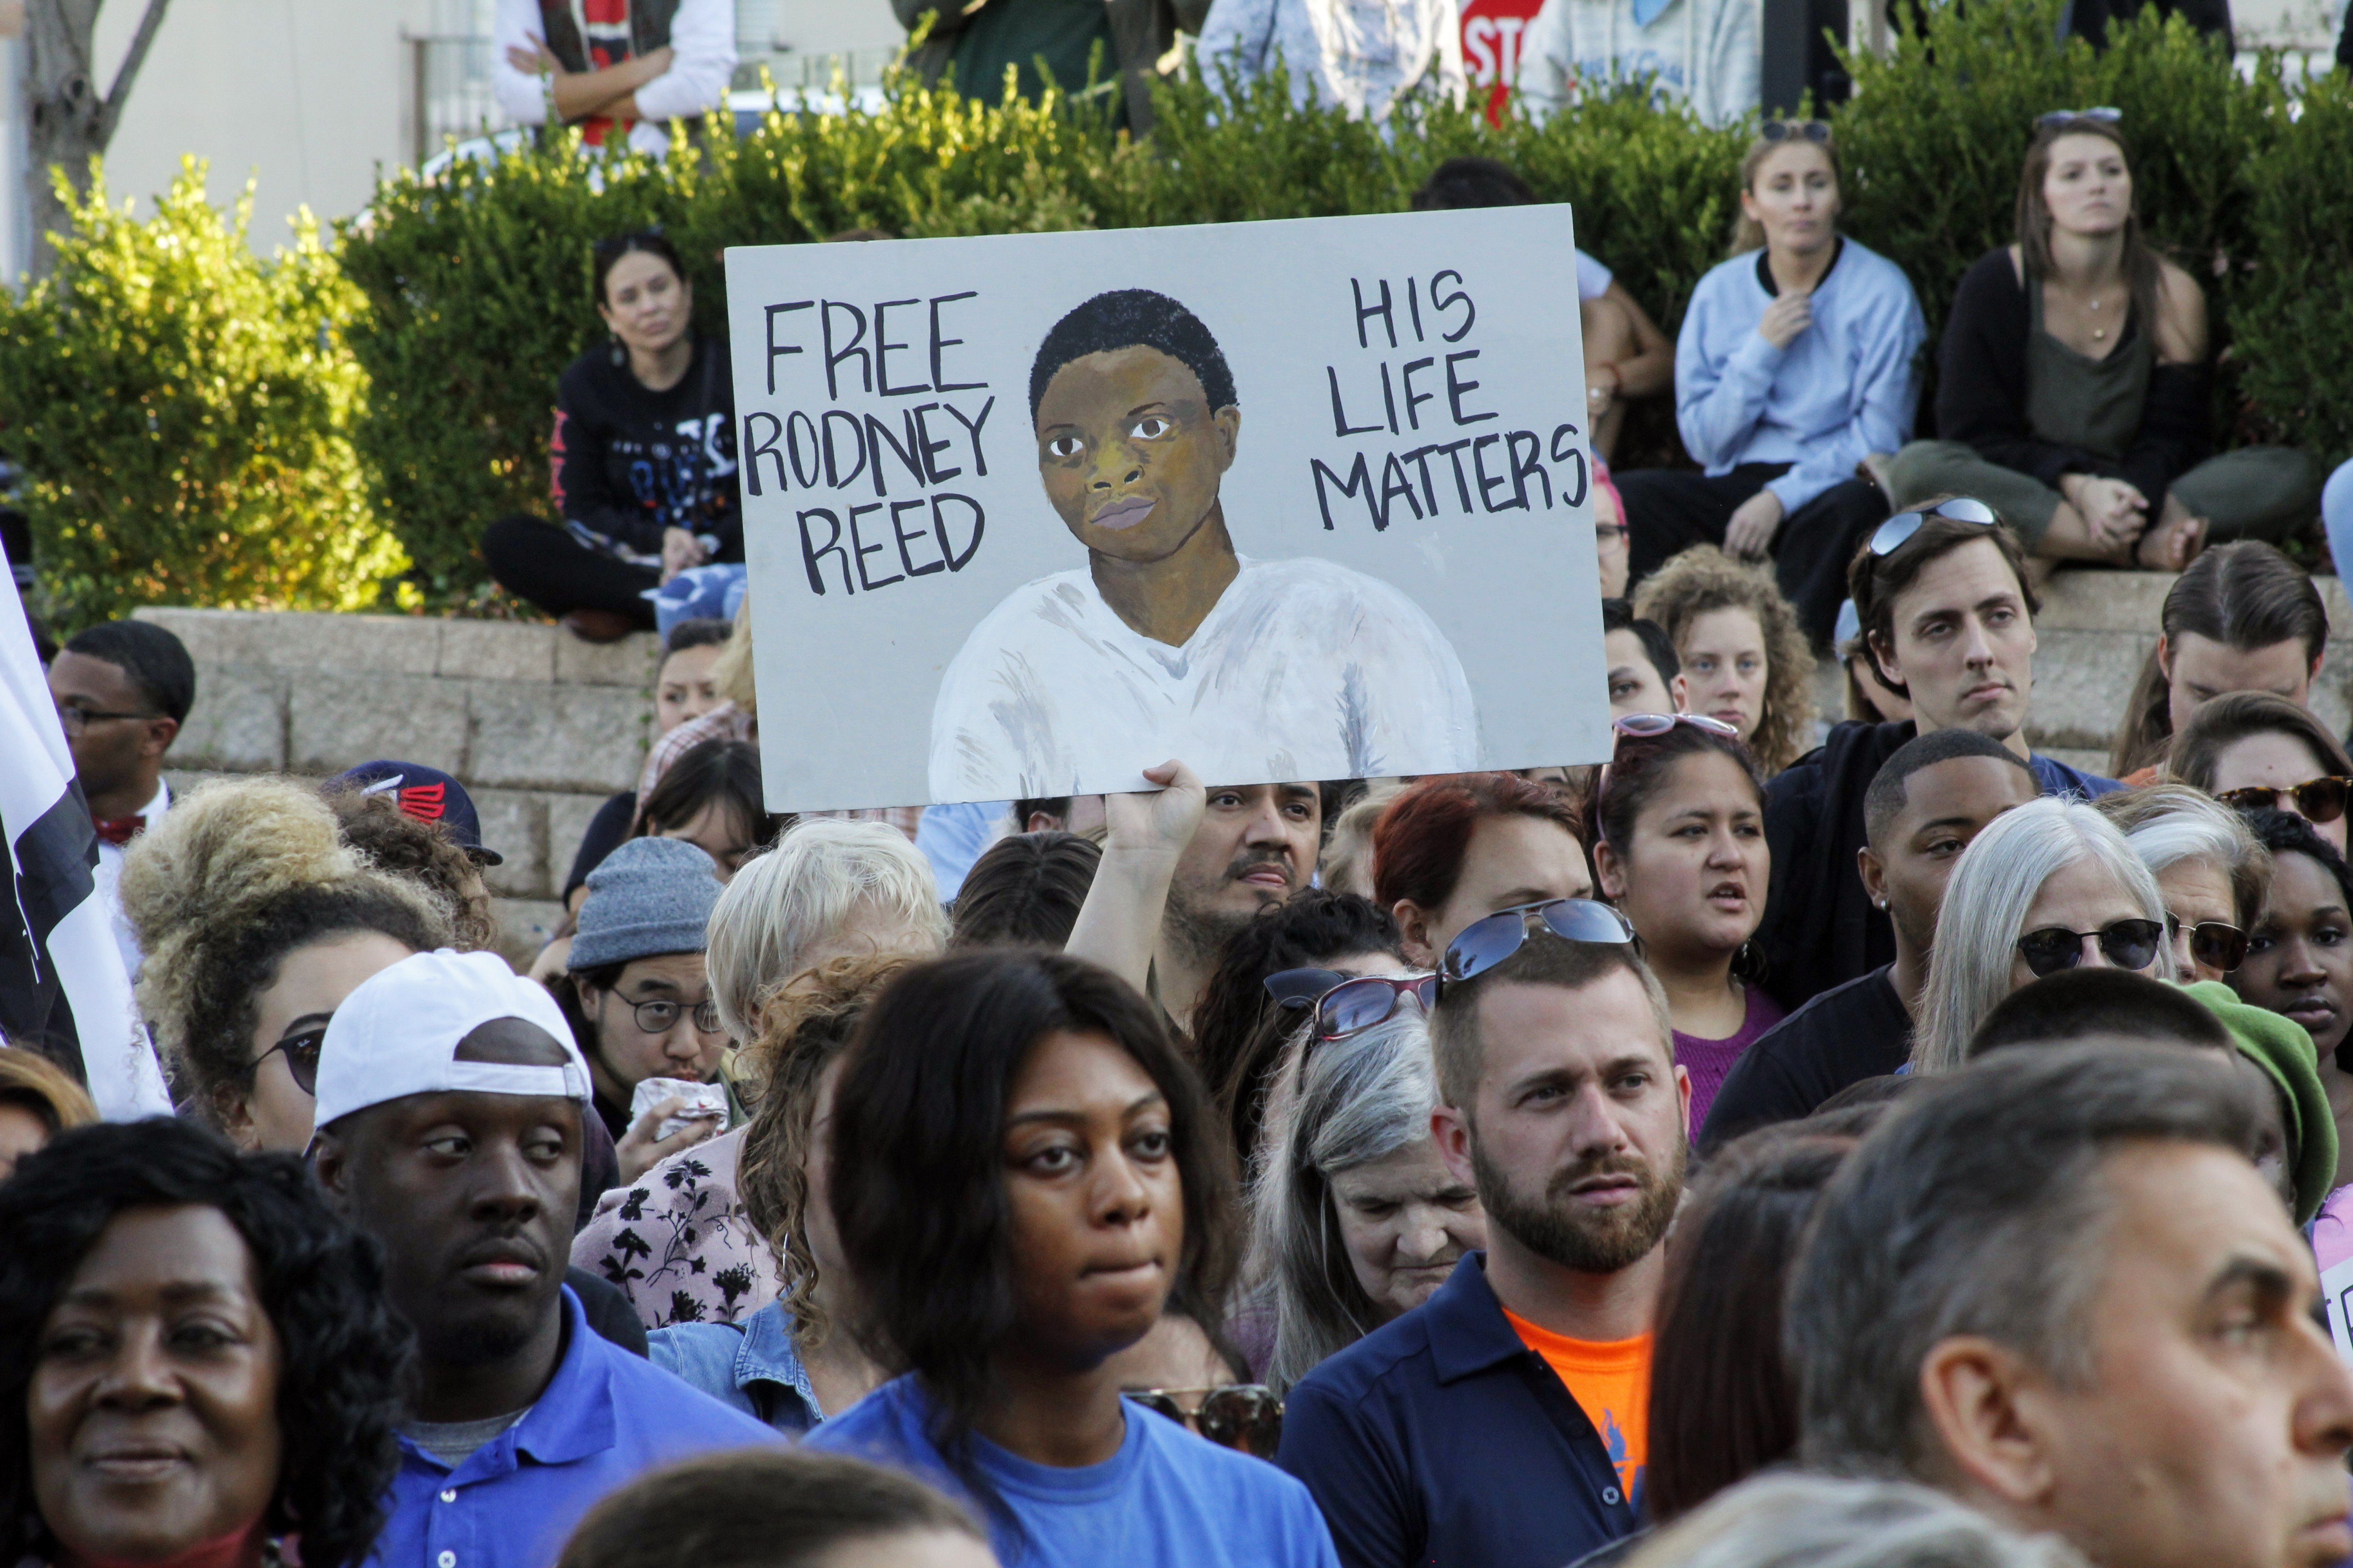
[[[344,348],[360,294],[308,212],[294,247],[247,247],[181,165],[155,216],[108,205],[99,169],[56,270],[0,292],[0,428],[61,625],[134,604],[360,609],[407,567],[351,444],[365,376]]]

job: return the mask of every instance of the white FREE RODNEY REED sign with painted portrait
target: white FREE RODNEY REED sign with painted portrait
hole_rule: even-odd
[[[727,252],[776,811],[1609,755],[1567,207]]]

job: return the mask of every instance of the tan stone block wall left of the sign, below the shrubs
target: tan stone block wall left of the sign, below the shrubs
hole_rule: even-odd
[[[174,790],[216,773],[325,778],[395,757],[456,776],[506,856],[485,872],[511,959],[536,952],[588,818],[638,783],[652,635],[588,644],[553,625],[141,609],[195,658]]]

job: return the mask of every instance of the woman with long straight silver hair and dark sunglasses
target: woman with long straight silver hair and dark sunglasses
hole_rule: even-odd
[[[1986,1013],[2061,969],[2174,978],[2165,898],[2115,825],[2071,797],[2012,806],[1960,851],[1937,914],[1913,1072],[1953,1072]]]

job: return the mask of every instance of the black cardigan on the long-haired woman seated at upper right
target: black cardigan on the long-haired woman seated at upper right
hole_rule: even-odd
[[[2141,430],[2120,458],[2038,440],[2026,425],[2026,289],[1995,247],[1960,275],[1953,313],[1937,346],[1937,435],[1977,447],[1977,456],[2059,489],[2059,475],[2085,473],[2127,480],[2148,496],[2148,515],[2165,505],[2165,487],[2212,451],[2207,371],[2202,364],[2158,364],[2148,374]],[[2146,331],[2134,320],[2125,331]]]

